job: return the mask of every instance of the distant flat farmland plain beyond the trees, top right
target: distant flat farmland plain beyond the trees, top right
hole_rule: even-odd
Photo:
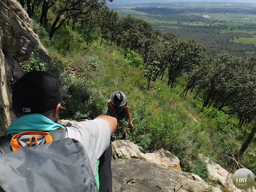
[[[120,17],[132,15],[146,20],[161,33],[195,38],[211,56],[223,51],[248,56],[256,50],[256,4],[151,3],[113,9]]]

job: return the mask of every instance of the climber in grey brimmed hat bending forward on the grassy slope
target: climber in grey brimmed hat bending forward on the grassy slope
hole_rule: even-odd
[[[121,120],[129,120],[129,127],[133,129],[130,111],[127,104],[127,97],[124,92],[113,92],[108,100],[108,110],[106,115],[114,116],[118,120],[118,125],[122,125]]]

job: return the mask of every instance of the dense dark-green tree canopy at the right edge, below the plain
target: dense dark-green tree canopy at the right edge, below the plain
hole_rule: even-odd
[[[216,60],[205,60],[205,65],[195,68],[188,76],[184,92],[196,88],[204,93],[204,105],[223,109],[237,115],[239,126],[250,123],[255,110],[255,54],[250,58],[234,57],[223,52]]]

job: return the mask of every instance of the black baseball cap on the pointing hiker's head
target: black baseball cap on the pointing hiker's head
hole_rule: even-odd
[[[13,108],[15,113],[44,113],[55,108],[66,94],[54,74],[36,70],[27,72],[13,85]]]

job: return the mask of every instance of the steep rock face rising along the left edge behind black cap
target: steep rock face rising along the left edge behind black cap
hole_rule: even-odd
[[[50,60],[32,29],[32,20],[17,1],[0,0],[0,134],[15,115],[10,110],[12,84],[22,76],[18,63],[28,60],[35,47],[40,47],[42,61]]]

